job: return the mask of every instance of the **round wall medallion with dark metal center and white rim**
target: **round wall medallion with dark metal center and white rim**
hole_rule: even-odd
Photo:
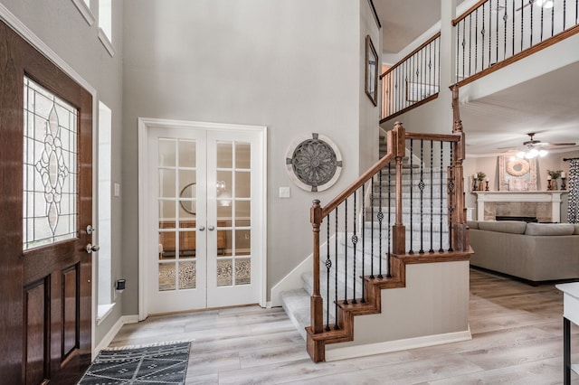
[[[289,146],[286,168],[299,188],[321,192],[337,182],[342,171],[342,155],[327,136],[312,134]]]

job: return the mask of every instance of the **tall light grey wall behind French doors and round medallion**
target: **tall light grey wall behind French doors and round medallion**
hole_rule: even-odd
[[[312,200],[328,202],[360,169],[360,3],[124,2],[126,314],[138,303],[138,117],[267,126],[268,288],[311,253]],[[289,144],[311,133],[330,137],[344,160],[326,192],[300,190],[286,173]],[[280,186],[291,198],[278,197]]]

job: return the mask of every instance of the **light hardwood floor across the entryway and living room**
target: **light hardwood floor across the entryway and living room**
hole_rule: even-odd
[[[186,384],[560,384],[562,314],[554,285],[470,270],[467,342],[316,364],[281,308],[248,306],[151,316],[110,346],[195,340]],[[579,362],[577,327],[571,349]]]

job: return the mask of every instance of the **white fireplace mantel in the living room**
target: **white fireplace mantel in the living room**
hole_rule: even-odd
[[[484,221],[485,202],[551,202],[551,221],[561,221],[561,195],[567,191],[474,192],[477,194],[477,219]]]

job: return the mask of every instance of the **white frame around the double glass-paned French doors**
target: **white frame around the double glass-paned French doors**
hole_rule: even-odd
[[[261,282],[260,286],[261,307],[266,306],[267,301],[267,127],[264,126],[247,126],[247,125],[232,125],[225,123],[206,123],[188,120],[173,120],[173,119],[157,119],[152,117],[138,118],[138,319],[142,321],[147,318],[147,288],[145,287],[147,281],[147,159],[148,159],[148,129],[156,128],[189,128],[189,129],[204,129],[207,131],[245,131],[261,133],[261,164],[263,167],[263,174],[261,178],[261,222],[263,237],[258,241],[258,249],[261,253],[261,264],[257,268],[260,269]],[[157,250],[155,250],[157,252]]]

